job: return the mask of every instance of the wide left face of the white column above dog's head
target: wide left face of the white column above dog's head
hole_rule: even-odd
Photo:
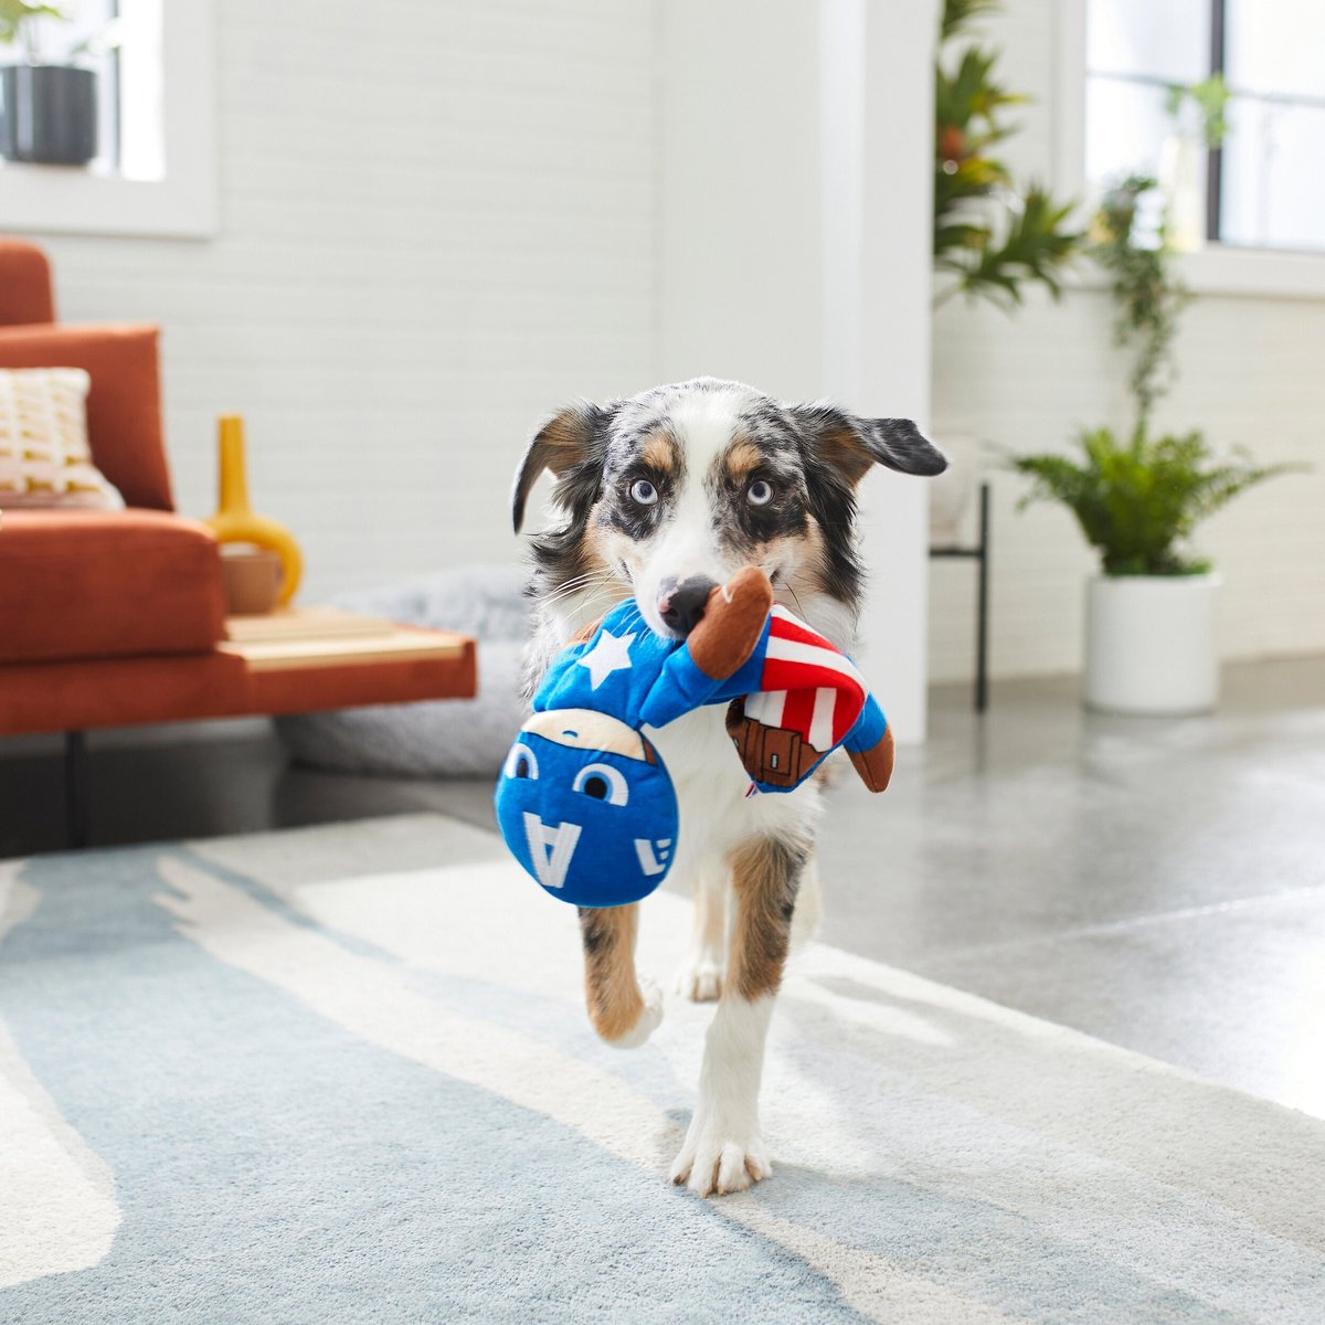
[[[662,380],[820,390],[818,0],[660,0]]]

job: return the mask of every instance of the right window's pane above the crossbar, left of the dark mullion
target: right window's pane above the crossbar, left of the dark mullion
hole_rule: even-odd
[[[1210,0],[1089,0],[1086,68],[1198,82],[1210,73]]]

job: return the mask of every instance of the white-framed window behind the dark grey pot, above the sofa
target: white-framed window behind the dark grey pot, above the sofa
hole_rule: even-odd
[[[68,12],[40,20],[37,38],[52,62],[89,42],[77,62],[98,74],[97,156],[85,170],[0,162],[0,231],[211,235],[211,0],[81,0]]]

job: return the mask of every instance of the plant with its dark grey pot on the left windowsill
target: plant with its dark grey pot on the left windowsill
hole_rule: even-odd
[[[0,65],[0,156],[44,166],[86,166],[97,155],[97,73],[73,61],[87,50],[78,42],[65,62],[46,62],[41,19],[66,21],[49,4],[0,0],[0,46],[21,46],[23,58]]]

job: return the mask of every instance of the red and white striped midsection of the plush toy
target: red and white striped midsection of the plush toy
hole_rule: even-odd
[[[780,604],[770,616],[759,690],[746,696],[746,717],[828,750],[852,729],[869,690],[851,660],[799,617]]]

